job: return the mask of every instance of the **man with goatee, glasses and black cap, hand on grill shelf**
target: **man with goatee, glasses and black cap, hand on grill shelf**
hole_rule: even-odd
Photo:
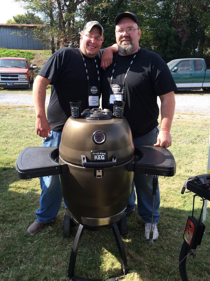
[[[176,84],[162,58],[139,47],[141,30],[136,15],[130,12],[120,13],[114,22],[118,53],[113,57],[113,64],[103,71],[102,107],[113,110],[114,100],[124,100],[123,115],[131,127],[135,148],[141,145],[160,145],[168,148],[171,145],[170,128],[174,115]],[[157,121],[157,96],[161,100],[161,128],[158,127]],[[159,186],[151,225],[152,181],[152,175],[134,175],[138,215],[145,223],[146,239],[149,239],[150,230],[153,230],[153,239],[157,239],[159,235]],[[135,208],[135,200],[133,185],[126,212],[129,213]]]

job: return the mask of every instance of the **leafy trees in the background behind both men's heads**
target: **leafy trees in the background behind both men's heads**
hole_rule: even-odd
[[[104,27],[104,43],[115,42],[114,18],[121,12],[136,13],[142,31],[140,45],[165,61],[205,57],[210,47],[210,0],[16,0],[41,13],[48,24],[46,40],[57,48],[76,47],[80,32],[90,20]],[[53,50],[52,50],[53,51]]]

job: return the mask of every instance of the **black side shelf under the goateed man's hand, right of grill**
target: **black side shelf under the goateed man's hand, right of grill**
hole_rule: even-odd
[[[134,171],[141,174],[173,177],[176,173],[176,162],[171,152],[161,146],[141,146],[135,150],[138,160]]]

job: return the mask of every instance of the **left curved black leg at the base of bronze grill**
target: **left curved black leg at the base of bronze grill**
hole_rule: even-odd
[[[75,269],[75,263],[76,263],[76,256],[77,256],[77,251],[79,248],[79,242],[82,237],[84,231],[84,226],[79,225],[79,228],[77,230],[76,237],[74,239],[74,244],[71,250],[71,256],[69,260],[69,271],[68,271],[68,277],[71,278],[74,276],[74,269]]]

